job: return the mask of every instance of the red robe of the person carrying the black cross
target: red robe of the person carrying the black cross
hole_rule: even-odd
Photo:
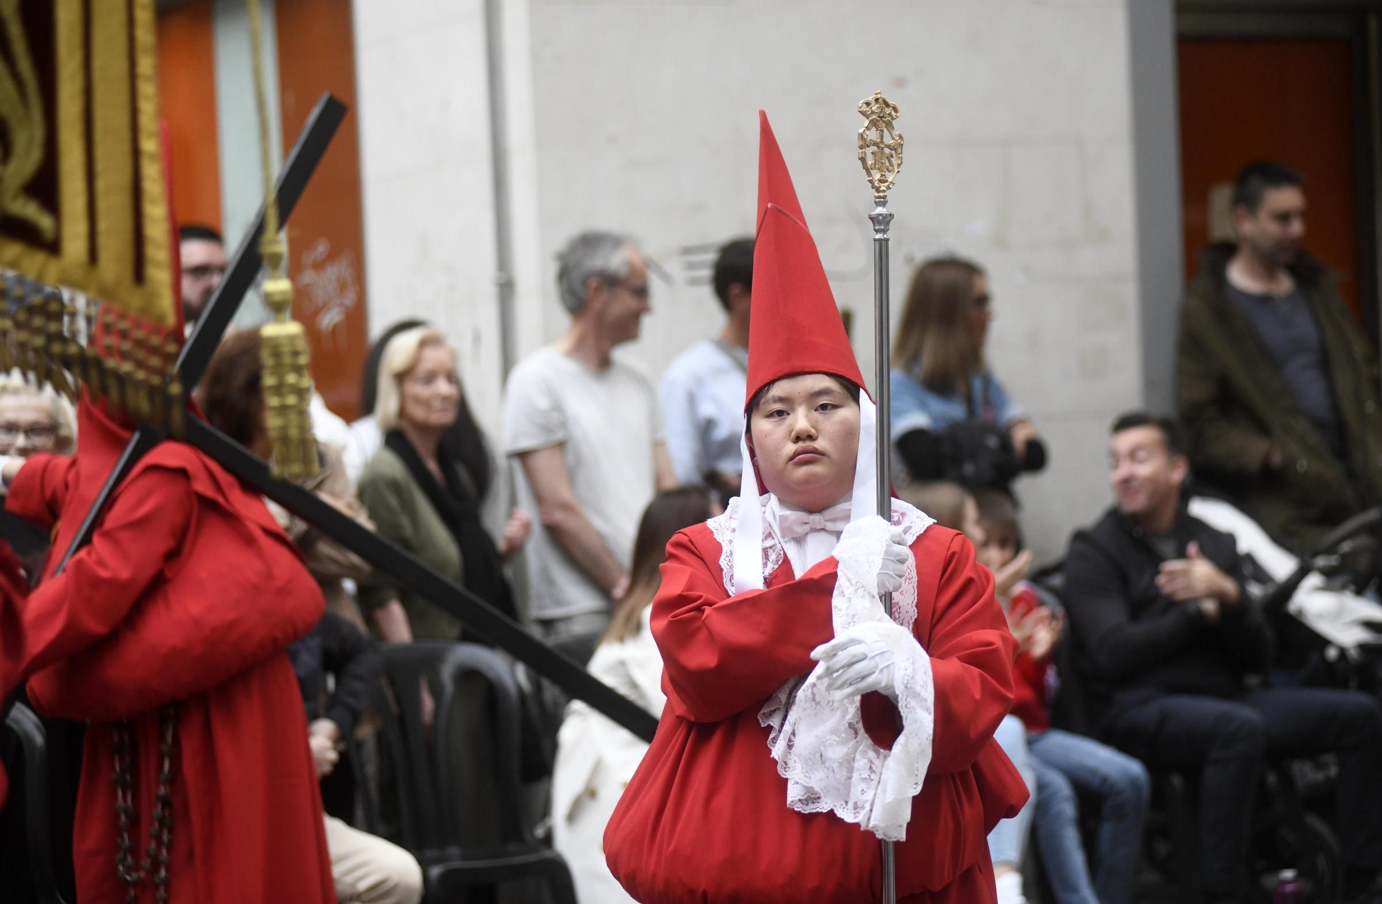
[[[6,507],[70,543],[129,433],[80,409],[77,455],[35,456]],[[50,563],[55,564],[58,554]],[[164,442],[122,484],[93,542],[22,605],[0,603],[0,691],[84,719],[73,861],[82,904],[123,903],[109,723],[134,738],[135,861],[148,845],[162,704],[177,701],[169,896],[177,904],[336,900],[301,695],[285,647],[322,593],[263,500]],[[153,900],[152,878],[140,900]]]

